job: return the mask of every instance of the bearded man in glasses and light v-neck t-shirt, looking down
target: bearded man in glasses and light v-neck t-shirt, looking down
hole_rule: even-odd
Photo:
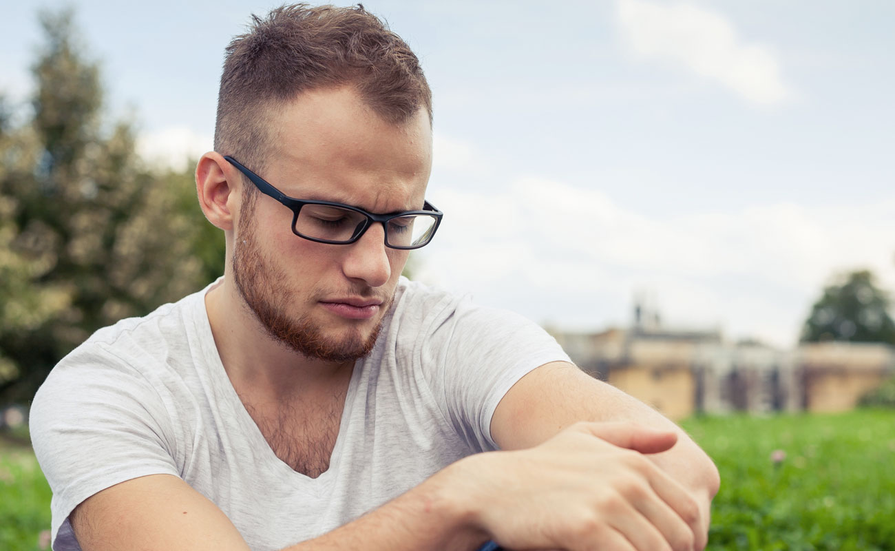
[[[224,277],[35,398],[54,548],[703,548],[718,475],[682,431],[533,323],[400,278],[441,219],[405,43],[362,7],[254,23],[196,169]]]

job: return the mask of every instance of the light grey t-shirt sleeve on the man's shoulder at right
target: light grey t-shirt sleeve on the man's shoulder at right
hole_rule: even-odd
[[[519,379],[544,364],[570,361],[557,341],[531,320],[468,300],[435,316],[428,329],[422,361],[429,366],[432,392],[475,451],[498,449],[491,437],[491,418]]]

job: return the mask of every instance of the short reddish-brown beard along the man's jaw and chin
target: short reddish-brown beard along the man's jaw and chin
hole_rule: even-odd
[[[251,209],[253,210],[253,209]],[[286,272],[274,266],[260,253],[255,243],[254,227],[251,224],[251,212],[239,220],[239,237],[242,245],[234,247],[233,273],[236,288],[243,303],[264,327],[268,335],[289,349],[299,352],[304,357],[320,359],[328,362],[354,361],[370,354],[379,331],[382,329],[384,316],[379,319],[371,333],[364,336],[357,327],[349,327],[339,337],[328,336],[320,325],[311,320],[310,314],[298,318],[288,314],[288,307],[294,304],[297,293],[286,288]],[[295,237],[301,239],[301,237]],[[337,245],[330,245],[337,246]],[[277,292],[275,289],[286,289]],[[345,295],[371,296],[371,288],[354,288]],[[311,297],[319,296],[312,293]],[[384,300],[379,306],[380,312],[388,312],[394,297]]]

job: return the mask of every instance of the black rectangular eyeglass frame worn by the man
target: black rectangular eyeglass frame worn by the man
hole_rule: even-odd
[[[354,207],[349,204],[341,203],[341,202],[331,202],[331,201],[304,201],[302,199],[295,199],[294,197],[290,197],[276,187],[271,185],[267,180],[258,176],[254,172],[252,172],[249,168],[246,168],[241,162],[230,157],[229,155],[225,155],[224,159],[229,162],[231,165],[239,169],[246,177],[251,180],[251,183],[258,188],[262,194],[268,195],[268,197],[272,197],[277,200],[277,202],[285,205],[289,210],[293,212],[292,217],[292,233],[294,233],[298,237],[302,237],[303,239],[308,239],[309,241],[315,241],[317,243],[326,243],[327,245],[351,245],[355,243],[358,239],[363,237],[363,234],[367,233],[367,230],[373,225],[374,222],[379,222],[382,224],[383,236],[385,245],[392,249],[400,249],[403,251],[409,251],[413,249],[418,249],[423,246],[429,245],[432,237],[435,236],[435,232],[438,230],[439,225],[441,224],[441,219],[444,217],[444,212],[439,211],[435,206],[428,202],[422,202],[422,211],[400,211],[400,212],[392,212],[390,214],[375,214],[373,212],[364,211],[361,208]],[[303,234],[298,233],[296,229],[298,225],[298,213],[302,210],[302,207],[306,204],[319,204],[328,207],[338,207],[340,209],[346,209],[348,211],[354,211],[362,214],[366,217],[366,221],[363,223],[363,227],[360,230],[355,230],[354,235],[348,241],[332,241],[330,239],[320,239],[320,237],[309,237]],[[388,243],[388,226],[387,223],[389,220],[393,220],[396,218],[401,218],[402,216],[408,216],[411,214],[425,214],[427,216],[432,216],[435,218],[435,225],[429,230],[429,238],[426,239],[426,242],[422,245],[410,245],[410,246],[402,246],[402,245],[390,245]]]

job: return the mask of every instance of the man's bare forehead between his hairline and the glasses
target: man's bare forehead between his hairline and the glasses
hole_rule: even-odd
[[[283,193],[372,212],[422,207],[432,154],[425,109],[395,125],[341,87],[304,92],[269,118],[266,173]]]

